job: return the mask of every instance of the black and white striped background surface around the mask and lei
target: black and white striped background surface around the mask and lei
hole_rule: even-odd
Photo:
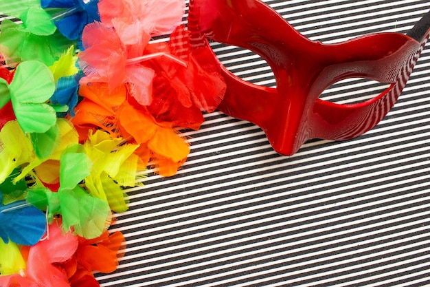
[[[235,0],[237,1],[237,0]],[[405,33],[430,1],[266,1],[310,39]],[[276,29],[276,27],[273,27]],[[275,85],[249,51],[214,43],[229,69]],[[324,98],[383,87],[349,80]],[[102,286],[430,286],[430,47],[402,96],[367,134],[273,152],[260,128],[214,112],[186,132],[173,178],[152,173],[117,216],[126,255]]]

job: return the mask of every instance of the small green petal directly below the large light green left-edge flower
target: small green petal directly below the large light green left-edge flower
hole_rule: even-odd
[[[45,133],[32,133],[30,137],[38,158],[48,158],[60,145],[60,129],[57,125],[53,125]]]

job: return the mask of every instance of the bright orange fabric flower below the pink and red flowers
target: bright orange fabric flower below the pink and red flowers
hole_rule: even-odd
[[[89,129],[102,129],[109,131],[113,138],[127,139],[128,144],[136,143],[139,145],[136,151],[142,161],[140,166],[148,163],[150,152],[152,158],[164,159],[161,167],[166,168],[161,169],[161,174],[171,176],[172,170],[176,172],[188,156],[188,144],[171,123],[158,123],[146,107],[128,103],[126,93],[124,87],[112,93],[104,83],[81,85],[80,95],[84,99],[79,103],[72,123],[78,129],[84,129],[80,132],[83,140],[88,139]],[[154,163],[160,165],[157,160]],[[170,172],[162,173],[164,170]]]

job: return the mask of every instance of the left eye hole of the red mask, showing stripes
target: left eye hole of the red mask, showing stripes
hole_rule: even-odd
[[[229,72],[243,81],[265,87],[276,87],[275,76],[262,57],[242,47],[210,42],[212,50]]]

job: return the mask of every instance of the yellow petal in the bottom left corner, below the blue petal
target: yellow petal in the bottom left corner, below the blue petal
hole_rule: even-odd
[[[19,247],[11,241],[5,244],[0,238],[0,274],[19,274],[21,270],[25,270],[25,261]]]

